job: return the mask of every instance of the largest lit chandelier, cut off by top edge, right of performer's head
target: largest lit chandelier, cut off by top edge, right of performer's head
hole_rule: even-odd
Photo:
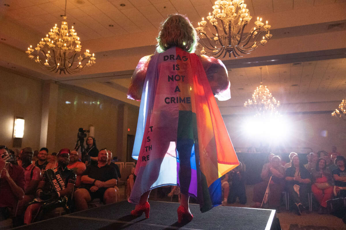
[[[264,46],[267,40],[272,37],[269,32],[271,26],[268,25],[268,21],[264,25],[262,18],[258,17],[255,21],[255,27],[250,32],[244,33],[245,27],[252,18],[249,10],[246,9],[244,0],[217,0],[212,8],[212,14],[209,13],[207,16],[207,20],[211,24],[210,27],[207,27],[207,21],[202,18],[196,28],[201,37],[206,40],[200,40],[201,54],[208,53],[216,58],[224,58],[228,53],[229,58],[231,54],[235,58],[242,57],[244,54],[251,53],[257,46]],[[209,37],[204,31],[206,27],[212,36]],[[262,27],[264,30],[261,30]]]

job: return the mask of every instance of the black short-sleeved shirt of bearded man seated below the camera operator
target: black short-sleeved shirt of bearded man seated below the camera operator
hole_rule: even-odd
[[[109,166],[108,164],[106,164],[105,166],[101,168],[99,168],[97,165],[90,165],[86,167],[86,170],[83,173],[83,176],[84,175],[87,175],[88,177],[92,179],[100,180],[103,182],[118,178],[118,174],[115,168],[113,168],[112,166]],[[90,189],[92,186],[94,185],[82,184],[81,188]]]

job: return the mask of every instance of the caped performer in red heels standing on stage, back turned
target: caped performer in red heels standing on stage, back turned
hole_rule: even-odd
[[[238,166],[214,98],[230,98],[220,60],[194,54],[197,33],[188,18],[168,17],[157,53],[143,57],[131,78],[128,98],[141,101],[132,156],[137,176],[128,199],[133,216],[149,217],[150,191],[179,185],[178,222],[191,221],[189,197],[201,212],[221,204],[220,177]]]

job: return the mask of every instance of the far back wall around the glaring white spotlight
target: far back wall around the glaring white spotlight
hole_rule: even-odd
[[[248,117],[247,117],[248,118]],[[234,147],[258,147],[267,141],[275,147],[271,139],[260,136],[256,139],[249,138],[244,130],[244,116],[226,116],[224,121]],[[332,146],[346,156],[346,122],[331,117],[330,113],[322,114],[291,114],[287,116],[289,130],[285,138],[280,141],[283,147],[310,147],[313,151],[331,151]],[[286,149],[289,152],[289,149]]]

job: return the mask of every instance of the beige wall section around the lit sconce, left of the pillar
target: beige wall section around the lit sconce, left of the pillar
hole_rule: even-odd
[[[15,117],[25,119],[22,147],[39,148],[43,81],[0,68],[0,144],[12,147]]]

